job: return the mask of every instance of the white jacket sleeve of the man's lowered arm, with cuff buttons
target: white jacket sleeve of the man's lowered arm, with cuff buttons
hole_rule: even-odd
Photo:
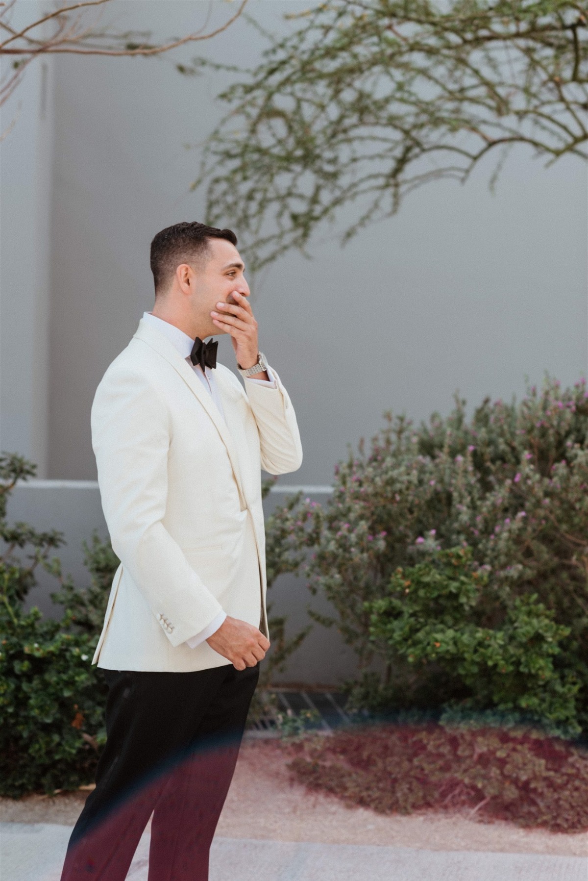
[[[92,404],[92,448],[113,550],[172,645],[223,611],[163,525],[171,442],[165,401],[140,374],[105,374]]]

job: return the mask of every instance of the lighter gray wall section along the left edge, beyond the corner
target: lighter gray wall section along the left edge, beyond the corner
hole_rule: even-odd
[[[18,4],[24,26],[40,6]],[[47,472],[53,65],[44,59],[0,109],[0,449]],[[3,72],[6,70],[3,59]]]

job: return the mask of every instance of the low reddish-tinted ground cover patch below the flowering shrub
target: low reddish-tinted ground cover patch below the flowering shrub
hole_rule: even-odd
[[[554,737],[383,725],[290,749],[298,781],[381,813],[467,810],[554,832],[588,829],[588,751]]]

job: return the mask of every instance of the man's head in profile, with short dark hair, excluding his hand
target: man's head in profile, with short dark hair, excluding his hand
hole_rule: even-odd
[[[210,316],[217,302],[232,302],[233,291],[249,296],[236,245],[232,230],[202,223],[179,223],[161,230],[151,242],[153,314],[191,337],[222,333]]]

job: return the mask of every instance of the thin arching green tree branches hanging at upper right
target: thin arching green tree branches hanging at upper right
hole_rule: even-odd
[[[486,156],[492,186],[516,145],[548,164],[585,159],[583,2],[331,0],[287,18],[290,33],[264,33],[261,64],[219,95],[229,112],[193,185],[206,181],[207,222],[232,218],[254,266],[305,252],[352,205],[347,241]]]

